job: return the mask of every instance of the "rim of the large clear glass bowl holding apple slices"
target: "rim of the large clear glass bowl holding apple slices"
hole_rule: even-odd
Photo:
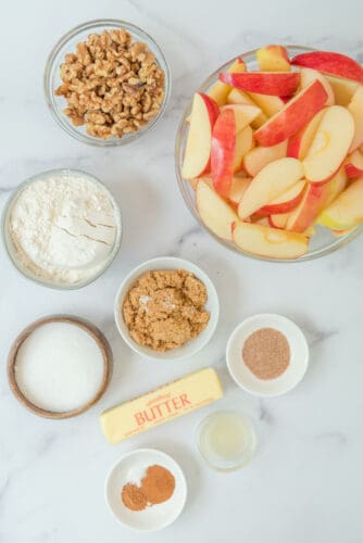
[[[315,48],[312,48],[309,46],[295,45],[295,43],[288,43],[288,45],[285,45],[284,47],[286,47],[286,49],[288,51],[290,51],[290,50],[296,50],[296,51],[300,51],[300,52],[316,51]],[[236,59],[239,59],[239,58],[242,58],[247,63],[251,62],[252,60],[254,60],[256,51],[258,51],[258,49],[251,49],[247,52],[235,55],[233,59],[230,59],[227,62],[225,62],[224,64],[222,64],[209,77],[206,77],[203,80],[203,83],[193,92],[205,92],[211,87],[211,85],[217,80],[217,76],[218,76],[220,72],[227,70],[228,66],[230,66],[230,64]],[[218,238],[215,233],[212,232],[212,230],[210,230],[204,225],[202,219],[199,217],[199,214],[197,213],[196,206],[190,204],[189,199],[186,195],[186,192],[187,192],[186,184],[188,181],[182,177],[182,168],[180,168],[182,141],[185,137],[183,131],[185,128],[186,119],[190,115],[191,103],[192,103],[192,97],[189,100],[186,108],[184,109],[184,112],[182,114],[182,118],[179,121],[179,124],[178,124],[177,130],[176,130],[175,146],[174,146],[175,175],[176,175],[177,184],[179,187],[179,191],[182,192],[182,197],[184,199],[184,202],[185,202],[187,209],[189,210],[189,213],[193,216],[193,218],[197,220],[197,223],[202,228],[202,230],[208,232],[220,244],[224,245],[226,249],[228,249],[229,251],[231,251],[235,254],[237,253],[237,254],[240,254],[242,256],[253,258],[255,261],[280,263],[280,264],[298,264],[298,263],[309,262],[309,261],[318,258],[321,256],[325,256],[327,254],[330,254],[330,253],[337,251],[338,249],[343,248],[345,245],[347,245],[349,242],[353,241],[355,238],[358,238],[363,232],[363,223],[362,223],[362,224],[355,226],[353,228],[353,230],[351,230],[350,232],[334,240],[334,242],[330,243],[329,245],[327,245],[325,248],[313,250],[313,251],[308,252],[306,254],[299,256],[297,258],[272,258],[272,257],[267,257],[267,256],[260,256],[258,254],[242,251],[242,250],[238,249],[237,247],[235,247],[231,242],[228,242],[228,241],[223,240],[222,238]]]

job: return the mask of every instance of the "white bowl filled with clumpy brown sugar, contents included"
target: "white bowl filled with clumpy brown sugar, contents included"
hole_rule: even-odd
[[[210,341],[220,303],[213,282],[200,267],[165,256],[128,274],[116,294],[114,315],[121,336],[136,353],[179,359]]]

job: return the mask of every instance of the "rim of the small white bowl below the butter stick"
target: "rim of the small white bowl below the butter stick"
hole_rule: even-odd
[[[130,526],[126,522],[124,522],[123,520],[121,520],[121,518],[118,518],[115,513],[113,512],[112,507],[111,507],[111,504],[110,504],[110,501],[109,501],[109,495],[108,495],[108,491],[109,491],[109,487],[111,484],[111,479],[112,479],[112,476],[113,476],[113,472],[114,470],[122,464],[122,462],[129,457],[129,456],[134,456],[134,455],[137,455],[137,454],[152,454],[152,455],[158,455],[160,456],[161,458],[166,458],[167,462],[170,462],[171,464],[174,465],[174,467],[176,468],[176,471],[177,471],[177,477],[178,477],[178,480],[179,482],[183,484],[183,488],[184,488],[184,497],[183,497],[183,502],[180,504],[180,507],[179,507],[179,510],[177,512],[176,516],[174,516],[171,520],[167,520],[165,523],[163,523],[162,526],[158,527],[158,528],[136,528],[134,526]],[[171,456],[170,454],[167,453],[164,453],[164,451],[160,451],[159,449],[151,449],[151,447],[140,447],[140,449],[134,449],[133,451],[127,451],[125,453],[123,453],[121,456],[118,456],[118,458],[112,464],[111,468],[109,469],[108,473],[107,473],[107,477],[105,477],[105,481],[104,481],[104,488],[103,488],[103,493],[104,493],[104,500],[105,500],[105,503],[108,505],[108,508],[112,515],[112,517],[114,518],[114,520],[122,525],[122,526],[126,526],[127,528],[136,531],[136,532],[140,532],[140,533],[147,533],[147,532],[157,532],[159,530],[163,530],[164,528],[166,528],[167,526],[171,526],[173,522],[175,522],[175,520],[177,520],[177,518],[182,515],[184,508],[185,508],[185,505],[187,503],[187,497],[188,497],[188,483],[187,483],[187,479],[186,479],[186,476],[184,473],[184,470],[182,469],[182,466],[178,462],[176,462],[176,459]]]

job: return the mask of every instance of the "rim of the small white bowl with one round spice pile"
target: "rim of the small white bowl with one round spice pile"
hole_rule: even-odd
[[[278,392],[256,392],[253,388],[246,386],[245,382],[242,382],[242,380],[238,379],[238,377],[236,376],[235,370],[233,368],[233,363],[231,363],[231,352],[230,352],[231,345],[233,345],[233,342],[235,341],[235,339],[238,337],[238,333],[243,329],[243,327],[246,325],[249,325],[250,323],[253,323],[253,321],[263,320],[265,318],[272,318],[275,321],[286,323],[286,324],[288,324],[288,326],[292,325],[292,328],[295,329],[296,333],[302,340],[303,349],[304,349],[304,353],[303,353],[304,367],[303,367],[303,371],[302,371],[300,378],[295,383],[292,383],[290,387],[281,389]],[[286,338],[288,339],[287,334],[286,334]],[[306,371],[308,371],[308,368],[309,368],[309,364],[310,364],[309,343],[308,343],[306,337],[305,337],[304,332],[302,331],[301,327],[299,325],[297,325],[296,321],[292,320],[291,318],[286,317],[285,315],[280,315],[279,313],[256,313],[254,315],[250,315],[249,317],[243,318],[231,331],[231,333],[228,338],[228,341],[227,341],[227,345],[226,345],[226,363],[227,363],[227,368],[228,368],[230,377],[233,378],[235,383],[240,389],[245,390],[246,392],[248,392],[249,394],[251,394],[255,397],[278,397],[278,396],[283,396],[284,394],[287,394],[288,392],[291,392],[304,379]],[[242,363],[242,361],[241,361],[241,363]]]

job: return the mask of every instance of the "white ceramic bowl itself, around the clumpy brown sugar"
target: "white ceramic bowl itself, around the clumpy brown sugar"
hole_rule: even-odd
[[[154,351],[153,349],[141,346],[136,343],[136,341],[134,341],[130,337],[127,326],[125,325],[122,316],[122,306],[128,290],[135,283],[138,277],[152,269],[186,269],[187,272],[191,272],[196,277],[198,277],[198,279],[200,279],[204,283],[208,292],[208,302],[205,304],[205,308],[210,312],[211,318],[206,328],[198,336],[198,338],[188,341],[184,346],[166,352]],[[210,341],[218,321],[220,302],[213,282],[200,267],[196,266],[196,264],[192,264],[192,262],[185,261],[183,258],[162,256],[140,264],[128,274],[117,291],[114,306],[114,316],[121,336],[136,353],[152,359],[180,359],[186,358],[187,356],[192,356]]]

